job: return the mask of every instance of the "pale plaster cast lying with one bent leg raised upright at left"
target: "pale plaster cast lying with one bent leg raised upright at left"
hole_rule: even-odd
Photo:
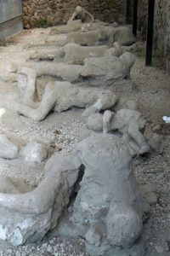
[[[52,110],[65,111],[71,107],[90,108],[86,116],[106,110],[116,104],[116,95],[111,90],[77,87],[70,82],[53,81],[45,86],[41,102],[35,102],[36,73],[30,68],[20,68],[20,75],[26,76],[26,84],[18,84],[19,101],[7,101],[4,97],[0,106],[20,113],[30,119],[41,121]],[[24,79],[23,79],[24,81]]]

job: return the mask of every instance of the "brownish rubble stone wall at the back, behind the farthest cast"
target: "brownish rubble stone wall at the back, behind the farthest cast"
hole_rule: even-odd
[[[23,0],[24,27],[35,27],[44,19],[51,25],[65,24],[77,5],[96,19],[125,22],[125,0]]]

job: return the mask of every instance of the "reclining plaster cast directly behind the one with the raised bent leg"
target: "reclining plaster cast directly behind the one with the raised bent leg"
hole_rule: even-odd
[[[64,61],[81,62],[83,55],[88,54],[82,51],[82,56],[76,55],[75,52],[70,52],[67,48],[62,49],[64,53]],[[104,49],[103,49],[104,50]],[[111,48],[106,49],[105,55],[101,57],[89,57],[84,60],[84,65],[69,65],[67,63],[56,63],[46,61],[37,63],[27,63],[26,67],[33,68],[37,77],[42,75],[52,76],[56,79],[61,79],[69,82],[88,82],[96,84],[96,86],[107,87],[108,84],[114,84],[117,80],[127,79],[130,77],[130,70],[133,67],[135,56],[130,52],[121,54],[121,49]],[[11,77],[14,75],[14,78]],[[4,81],[16,81],[16,73],[0,74],[0,78]]]

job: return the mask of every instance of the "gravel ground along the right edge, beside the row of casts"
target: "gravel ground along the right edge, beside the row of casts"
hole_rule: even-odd
[[[148,256],[170,255],[170,126],[163,124],[162,116],[170,115],[170,77],[156,67],[144,67],[144,60],[136,61],[132,79],[138,86],[133,98],[138,99],[139,110],[147,120],[145,137],[153,136],[153,128],[161,125],[158,134],[163,136],[163,154],[152,152],[149,157],[134,167],[139,185],[154,183],[158,201],[151,207],[149,223],[151,240]]]

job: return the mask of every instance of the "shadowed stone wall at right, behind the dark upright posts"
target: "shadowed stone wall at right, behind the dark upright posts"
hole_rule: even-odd
[[[148,0],[139,1],[139,30],[146,38]],[[170,72],[170,1],[156,0],[154,20],[154,56]]]

